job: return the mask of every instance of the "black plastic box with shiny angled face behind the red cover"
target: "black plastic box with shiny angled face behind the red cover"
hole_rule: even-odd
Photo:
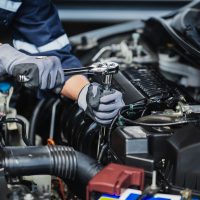
[[[140,126],[118,127],[112,133],[111,149],[123,163],[152,172],[164,156],[171,132]]]

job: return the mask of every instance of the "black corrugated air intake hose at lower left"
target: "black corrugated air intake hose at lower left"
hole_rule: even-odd
[[[0,167],[11,176],[54,175],[80,184],[97,174],[102,166],[92,158],[66,146],[5,147]]]

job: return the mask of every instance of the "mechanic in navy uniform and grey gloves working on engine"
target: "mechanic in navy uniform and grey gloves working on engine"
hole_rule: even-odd
[[[64,82],[61,66],[81,67],[70,53],[68,37],[50,0],[0,0],[0,24],[12,28],[15,47],[0,45],[1,74],[26,74],[30,80],[25,86],[52,89]],[[78,100],[79,107],[101,124],[111,123],[124,105],[121,92],[106,95],[101,85],[83,75],[65,77],[61,94]]]

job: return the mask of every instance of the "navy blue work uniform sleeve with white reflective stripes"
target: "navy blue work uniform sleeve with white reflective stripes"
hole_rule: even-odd
[[[50,0],[0,0],[0,25],[13,30],[13,46],[27,54],[57,56],[63,68],[81,67]]]

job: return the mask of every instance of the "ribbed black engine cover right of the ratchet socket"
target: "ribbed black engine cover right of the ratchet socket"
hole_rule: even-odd
[[[113,86],[122,92],[126,104],[141,100],[165,101],[180,94],[156,66],[135,64],[114,76]]]

